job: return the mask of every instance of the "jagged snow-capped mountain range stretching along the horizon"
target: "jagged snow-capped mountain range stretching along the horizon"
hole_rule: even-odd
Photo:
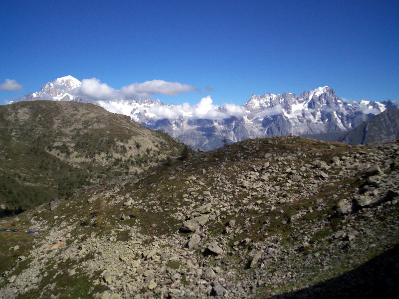
[[[14,99],[77,101],[97,104],[111,112],[128,115],[132,120],[154,130],[162,130],[194,149],[209,150],[248,138],[318,134],[349,131],[398,103],[345,102],[331,87],[319,87],[299,96],[253,95],[242,106],[212,105],[210,97],[194,107],[165,105],[149,99],[94,99],[80,92],[80,81],[66,76],[47,83],[36,93]]]

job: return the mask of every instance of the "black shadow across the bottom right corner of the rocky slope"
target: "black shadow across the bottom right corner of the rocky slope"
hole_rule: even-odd
[[[398,299],[399,244],[351,272],[272,299]]]

